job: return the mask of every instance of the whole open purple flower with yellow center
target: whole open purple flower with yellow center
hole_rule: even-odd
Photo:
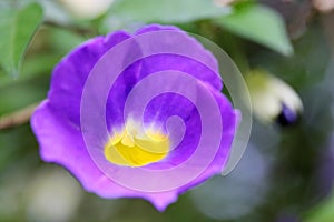
[[[102,198],[158,210],[224,169],[238,112],[213,54],[175,27],[116,31],[55,68],[31,119],[40,155]]]

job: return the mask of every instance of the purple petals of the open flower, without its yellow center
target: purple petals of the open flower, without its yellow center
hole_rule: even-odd
[[[194,38],[177,28],[157,24],[145,27],[136,34],[139,37],[164,30],[176,30],[181,33],[183,40],[187,41],[187,47],[190,47],[202,59],[197,60],[191,54],[173,53],[140,58],[121,71],[110,85],[107,103],[104,107],[106,110],[97,111],[106,112],[104,123],[107,124],[108,130],[125,124],[125,119],[130,114],[134,117],[144,114],[143,119],[139,119],[144,124],[148,127],[154,124],[167,132],[171,129],[170,125],[168,127],[168,121],[177,115],[183,120],[186,131],[178,131],[177,124],[174,125],[171,139],[177,141],[177,137],[181,134],[183,140],[175,150],[170,151],[168,158],[143,168],[120,167],[111,164],[101,154],[104,143],[108,140],[108,132],[97,130],[89,134],[91,137],[88,140],[85,138],[87,129],[82,127],[80,115],[82,115],[82,97],[87,89],[87,81],[91,77],[89,74],[100,60],[108,58],[110,49],[131,38],[126,32],[119,31],[106,38],[95,38],[67,56],[55,68],[48,99],[37,109],[31,119],[45,161],[62,164],[86,190],[100,196],[144,198],[158,210],[164,210],[169,203],[176,201],[179,193],[222,172],[238,119],[228,100],[220,93],[222,80],[217,74],[217,61]],[[130,47],[132,48],[127,49],[139,50],[140,54],[140,44],[135,41]],[[110,63],[108,60],[107,62]],[[112,63],[110,67],[112,69]],[[104,72],[104,69],[100,71]],[[105,73],[112,73],[112,70]],[[151,80],[154,81],[149,82]],[[186,80],[190,82],[183,82]],[[104,81],[105,79],[101,78],[96,85],[90,85],[96,90],[95,93],[99,92]],[[148,84],[145,85],[146,81]],[[143,88],[140,93],[138,91],[136,93],[140,87]],[[165,91],[159,94],[159,90]],[[149,102],[146,102],[145,95],[150,93],[156,93],[156,97],[146,98],[149,99]],[[100,100],[98,102],[105,100],[105,98],[97,99]],[[146,109],[143,109],[143,105]],[[129,112],[127,112],[128,108],[130,108]],[[99,117],[100,113],[88,114]],[[219,130],[219,122],[222,122],[222,134],[217,134],[215,130],[207,130],[203,142],[203,119],[206,121],[206,129],[213,125],[216,131]],[[94,147],[94,155],[97,153],[98,158],[92,157],[91,147],[87,143],[91,142],[89,140],[97,145]],[[202,144],[200,151],[197,150],[198,143]],[[203,143],[206,147],[203,147]],[[164,170],[173,171],[164,174]],[[163,174],[159,174],[160,172]],[[150,173],[155,175],[151,176]],[[127,181],[135,186],[125,184]],[[169,182],[170,186],[168,186]]]

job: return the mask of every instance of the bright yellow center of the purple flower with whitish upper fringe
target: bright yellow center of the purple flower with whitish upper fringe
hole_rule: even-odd
[[[160,131],[138,130],[132,121],[115,133],[105,145],[106,159],[118,165],[143,167],[163,160],[169,150],[169,139]]]

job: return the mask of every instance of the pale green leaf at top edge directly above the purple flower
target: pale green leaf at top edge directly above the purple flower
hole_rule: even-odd
[[[110,22],[161,22],[181,23],[198,19],[219,17],[227,8],[218,7],[213,0],[119,0],[116,1],[108,14]]]

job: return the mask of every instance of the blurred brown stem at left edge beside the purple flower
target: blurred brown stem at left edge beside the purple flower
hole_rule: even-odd
[[[29,122],[37,105],[38,103],[33,103],[21,110],[0,117],[0,131]]]

